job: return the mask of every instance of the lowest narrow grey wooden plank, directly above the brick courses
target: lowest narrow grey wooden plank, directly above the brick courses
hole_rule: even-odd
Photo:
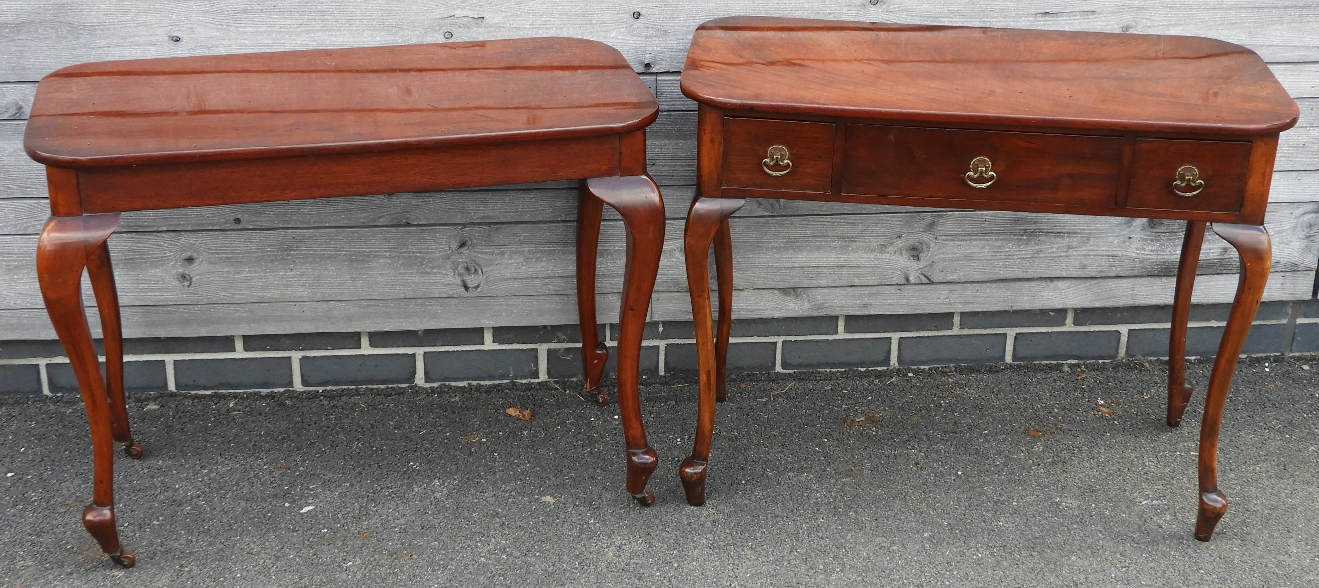
[[[1274,273],[1269,277],[1264,299],[1308,298],[1312,281],[1312,272]],[[1173,299],[1173,283],[1170,277],[1141,276],[737,290],[733,293],[733,312],[736,318],[781,318],[1166,305]],[[1235,287],[1235,276],[1200,276],[1195,302],[1231,302]],[[617,295],[601,294],[598,309],[600,322],[616,320],[617,307]],[[685,291],[657,293],[650,312],[653,320],[690,320],[691,303]],[[576,302],[571,294],[561,294],[127,306],[123,315],[124,334],[135,338],[259,335],[575,324]],[[95,309],[88,309],[88,316],[94,334],[99,336]],[[0,310],[0,334],[4,339],[55,338],[42,309]]]

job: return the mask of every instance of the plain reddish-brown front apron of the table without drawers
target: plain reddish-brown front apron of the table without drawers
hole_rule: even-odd
[[[75,192],[53,190],[51,210],[124,212],[599,178],[619,175],[620,153],[619,136],[609,134],[75,171]],[[70,198],[80,202],[54,202]]]

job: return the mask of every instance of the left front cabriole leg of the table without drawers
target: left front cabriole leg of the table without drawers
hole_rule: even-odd
[[[119,348],[119,312],[113,295],[113,279],[108,276],[109,256],[104,253],[106,239],[119,225],[119,215],[63,216],[46,221],[37,241],[37,279],[41,297],[50,314],[50,322],[65,345],[69,363],[78,378],[83,406],[87,409],[87,422],[91,427],[92,446],[92,505],[83,510],[83,526],[109,554],[115,563],[132,567],[136,558],[132,551],[124,551],[119,543],[119,530],[115,525],[115,439],[128,436],[128,421],[113,417],[111,399],[106,396],[106,382],[100,376],[96,351],[92,348],[91,330],[82,305],[82,273],[92,270],[98,303],[102,316],[112,316],[112,334],[107,336],[107,372],[113,365],[111,356],[121,353]],[[113,303],[115,311],[108,311]],[[111,349],[111,339],[116,349]],[[115,373],[121,377],[121,361]],[[121,384],[120,384],[121,386]],[[117,410],[123,410],[123,389],[119,389]],[[116,421],[121,428],[116,430]],[[121,435],[121,436],[120,436]]]

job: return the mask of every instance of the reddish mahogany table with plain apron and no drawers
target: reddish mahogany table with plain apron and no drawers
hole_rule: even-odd
[[[135,459],[142,450],[124,409],[106,239],[120,212],[141,210],[579,179],[586,388],[599,386],[608,355],[596,338],[595,261],[609,204],[628,229],[617,367],[628,492],[649,505],[656,455],[637,365],[663,245],[663,204],[645,175],[644,128],[657,112],[617,50],[574,38],[123,61],[44,78],[24,136],[50,191],[37,272],[91,423],[94,501],[83,523],[100,548],[121,566],[136,560],[115,525],[115,442]],[[82,305],[84,268],[104,380]]]

